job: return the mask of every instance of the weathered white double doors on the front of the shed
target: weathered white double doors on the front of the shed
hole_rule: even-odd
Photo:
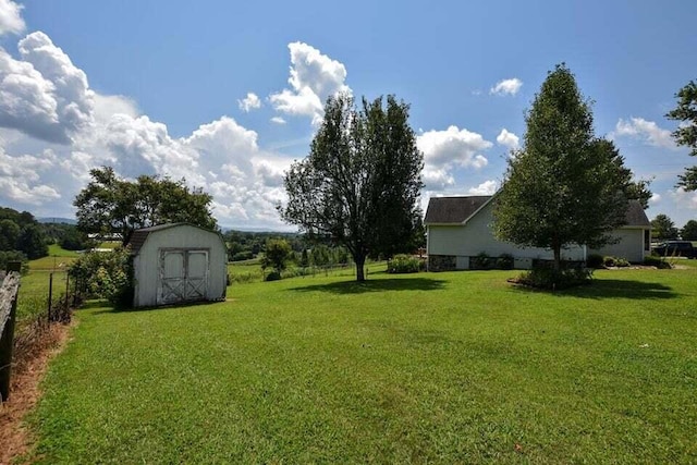
[[[208,250],[160,250],[158,304],[201,301],[208,291]]]

